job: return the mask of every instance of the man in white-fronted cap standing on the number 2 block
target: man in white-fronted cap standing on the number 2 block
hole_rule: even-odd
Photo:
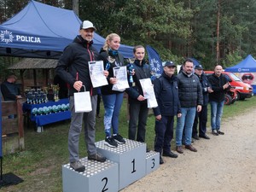
[[[96,89],[90,80],[89,61],[96,61],[98,52],[92,46],[96,27],[89,20],[84,20],[80,26],[79,35],[74,38],[63,51],[55,68],[61,79],[69,85],[69,104],[71,110],[71,124],[68,133],[68,150],[70,166],[77,172],[84,172],[85,166],[79,160],[79,135],[84,121],[84,140],[88,159],[104,162],[106,158],[96,152],[95,124],[96,124]],[[68,69],[68,70],[67,70]],[[108,71],[104,71],[108,76]],[[90,91],[92,111],[90,113],[75,113],[73,93],[79,90]]]

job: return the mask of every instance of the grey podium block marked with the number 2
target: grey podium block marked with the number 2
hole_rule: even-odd
[[[88,160],[87,157],[80,161],[85,166],[84,172],[75,172],[69,164],[62,166],[63,192],[118,191],[117,163]]]

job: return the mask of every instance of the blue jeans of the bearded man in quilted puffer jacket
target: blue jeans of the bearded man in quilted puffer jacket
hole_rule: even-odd
[[[184,143],[191,144],[192,127],[195,119],[196,108],[181,108],[182,116],[177,118],[176,128],[176,146],[182,146],[183,129],[184,129]]]

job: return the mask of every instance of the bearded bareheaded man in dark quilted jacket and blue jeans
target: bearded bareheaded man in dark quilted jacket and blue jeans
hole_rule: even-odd
[[[203,97],[200,81],[198,77],[192,73],[193,66],[193,61],[187,59],[183,62],[183,71],[177,75],[178,96],[182,115],[177,118],[176,150],[177,153],[180,154],[183,154],[183,129],[185,148],[193,152],[197,151],[197,149],[191,145],[192,127],[195,113],[201,111]]]

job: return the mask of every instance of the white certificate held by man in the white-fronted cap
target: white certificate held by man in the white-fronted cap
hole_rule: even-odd
[[[103,61],[89,61],[90,80],[93,87],[101,87],[108,84],[104,76]]]

